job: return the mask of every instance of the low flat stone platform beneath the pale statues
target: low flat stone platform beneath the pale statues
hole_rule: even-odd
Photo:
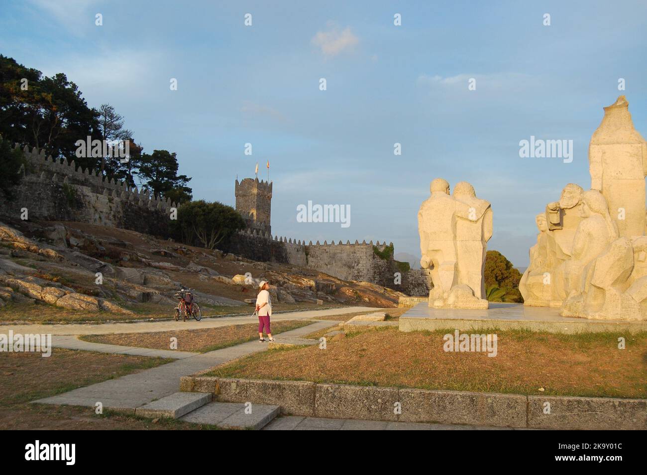
[[[434,309],[426,302],[415,305],[400,316],[400,331],[457,329],[529,329],[550,333],[580,333],[600,331],[647,331],[647,321],[589,320],[560,316],[560,309],[525,307],[522,304],[490,302],[489,309]]]

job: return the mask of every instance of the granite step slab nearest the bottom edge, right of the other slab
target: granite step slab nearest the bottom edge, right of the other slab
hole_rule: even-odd
[[[243,403],[209,403],[180,419],[196,424],[210,424],[228,429],[260,430],[281,413],[281,406],[251,404],[246,414]]]

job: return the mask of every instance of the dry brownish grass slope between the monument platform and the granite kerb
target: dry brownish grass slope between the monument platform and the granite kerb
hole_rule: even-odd
[[[647,332],[479,332],[497,333],[496,357],[446,352],[445,333],[454,330],[404,333],[380,327],[356,331],[329,339],[325,350],[318,345],[270,349],[208,374],[529,395],[647,397]],[[619,337],[626,338],[626,349],[618,349]]]

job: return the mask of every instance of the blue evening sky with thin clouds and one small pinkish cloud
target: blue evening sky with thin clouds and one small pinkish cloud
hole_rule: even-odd
[[[269,160],[272,234],[420,256],[441,177],[490,201],[488,249],[524,267],[535,215],[590,188],[602,107],[626,95],[647,136],[646,18],[644,0],[2,0],[0,53],[113,105],[144,151],[175,151],[194,199],[233,206],[236,177],[258,162],[267,180]],[[572,161],[521,158],[531,136],[573,140]],[[350,206],[349,226],[300,222],[308,201]]]

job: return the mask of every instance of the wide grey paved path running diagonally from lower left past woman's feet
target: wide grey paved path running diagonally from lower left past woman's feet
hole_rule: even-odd
[[[322,321],[314,324],[285,331],[277,335],[281,338],[303,337],[313,331],[336,325],[335,321]],[[104,408],[119,410],[135,410],[135,408],[150,403],[154,399],[168,396],[179,391],[180,377],[208,370],[213,366],[227,361],[265,351],[267,343],[252,341],[229,348],[217,349],[209,353],[195,354],[157,368],[140,371],[118,379],[99,382],[85,388],[78,388],[60,395],[38,399],[35,403],[43,404],[73,404],[76,406],[91,406],[102,403]],[[94,350],[96,351],[96,349]],[[175,353],[175,352],[173,352]]]

